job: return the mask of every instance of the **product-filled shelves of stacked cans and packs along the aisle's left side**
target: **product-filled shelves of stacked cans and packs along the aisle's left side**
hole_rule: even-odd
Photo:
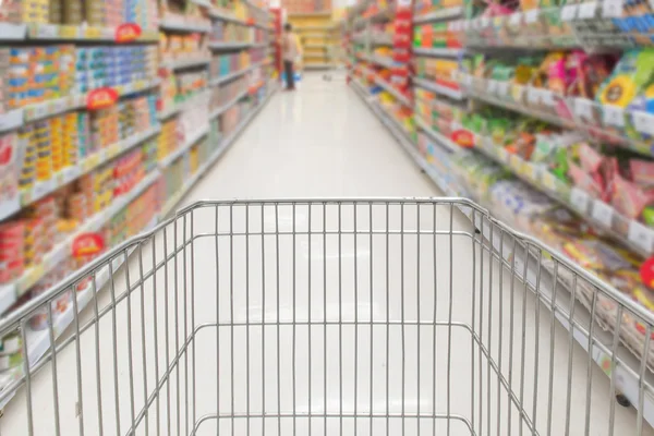
[[[252,2],[84,4],[0,4],[0,316],[166,218],[275,90]],[[0,339],[0,391],[22,383],[22,338],[32,366],[49,317],[57,338],[100,281]]]

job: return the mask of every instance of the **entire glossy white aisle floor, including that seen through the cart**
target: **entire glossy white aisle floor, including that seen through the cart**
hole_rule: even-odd
[[[305,78],[299,92],[276,95],[184,203],[438,194],[342,80],[325,82],[314,74]],[[157,262],[164,257],[164,241],[170,253],[174,229],[180,243],[184,225],[190,232],[190,221],[194,234],[215,232],[216,226],[221,234],[228,230],[250,234],[195,240],[192,258],[191,250],[178,255],[169,262],[168,270],[157,271],[156,283],[150,277],[143,289],[136,288],[130,306],[126,300],[117,305],[116,320],[111,313],[101,318],[99,346],[95,327],[83,335],[78,358],[83,422],[75,414],[76,351],[71,344],[59,353],[62,435],[80,434],[80,427],[86,435],[98,435],[99,408],[105,434],[117,434],[117,426],[121,435],[126,434],[133,414],[154,391],[155,382],[162,378],[164,368],[182,348],[184,338],[202,323],[216,323],[216,313],[220,324],[251,326],[221,327],[219,335],[215,327],[197,332],[191,351],[171,373],[170,383],[162,384],[159,395],[152,397],[149,415],[135,434],[185,435],[196,419],[218,409],[223,415],[233,411],[241,416],[233,427],[222,420],[220,434],[470,435],[461,421],[451,424],[450,433],[447,421],[428,417],[441,415],[448,408],[472,421],[476,435],[532,434],[526,425],[520,425],[518,409],[509,408],[506,390],[498,387],[487,360],[476,350],[471,352],[474,343],[470,332],[455,327],[450,334],[446,326],[434,327],[429,323],[434,318],[476,323],[475,331],[483,330],[482,339],[491,343],[494,360],[502,359],[498,366],[507,379],[511,377],[517,396],[523,396],[525,413],[537,421],[541,435],[548,434],[549,424],[552,435],[566,434],[568,398],[572,409],[569,434],[584,434],[586,354],[577,344],[568,347],[567,331],[558,324],[552,328],[546,312],[536,322],[538,305],[534,299],[524,298],[517,284],[511,293],[508,274],[500,275],[497,265],[488,267],[488,256],[480,255],[479,246],[473,251],[469,237],[434,237],[434,228],[450,229],[449,205],[395,205],[388,209],[384,204],[344,205],[342,209],[338,205],[208,207],[194,210],[186,222],[180,219],[169,225],[166,234],[159,230],[154,247]],[[306,234],[308,226],[311,237]],[[458,214],[451,226],[471,231],[470,223]],[[351,234],[354,227],[361,232],[356,238]],[[387,228],[405,234],[387,237]],[[262,235],[262,229],[268,234]],[[337,229],[341,229],[340,235]],[[425,233],[411,234],[416,229]],[[146,271],[152,268],[150,250],[152,243],[142,250]],[[134,283],[142,274],[137,259],[137,255],[132,257],[129,278],[124,271],[118,275],[118,295],[125,289],[125,280]],[[110,306],[109,295],[105,291],[98,298],[100,312]],[[500,307],[504,312],[497,312]],[[81,325],[92,315],[87,310]],[[262,323],[266,324],[264,329]],[[534,347],[535,335],[538,347]],[[520,348],[523,338],[524,353]],[[555,350],[552,354],[550,344]],[[549,371],[550,355],[554,371]],[[159,365],[154,365],[155,360]],[[46,365],[33,383],[38,435],[55,434],[50,368]],[[593,393],[586,434],[608,435],[607,416],[614,403],[608,378],[595,364],[590,368]],[[27,434],[24,409],[22,392],[0,421],[1,435]],[[311,412],[315,417],[311,424],[307,417],[293,421],[293,409],[296,414]],[[116,410],[120,411],[118,420]],[[262,413],[268,416],[265,423],[256,417]],[[416,413],[423,416],[420,421],[411,417]],[[615,413],[613,434],[635,434],[633,410],[617,407]],[[242,419],[246,414],[254,416],[250,425]],[[339,414],[347,417],[340,421],[336,417]],[[356,421],[353,415],[359,416]],[[392,417],[387,421],[387,415]],[[216,421],[207,420],[197,434],[216,433]]]

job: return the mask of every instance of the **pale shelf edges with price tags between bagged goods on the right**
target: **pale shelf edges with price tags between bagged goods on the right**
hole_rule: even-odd
[[[474,198],[479,194],[470,192],[467,186],[461,185],[451,168],[456,166],[453,162],[457,158],[481,154],[512,173],[525,186],[547,195],[559,207],[565,207],[579,219],[601,231],[616,246],[627,249],[634,256],[641,256],[641,258],[651,257],[654,254],[654,229],[637,220],[628,219],[610,205],[593,199],[578,187],[566,185],[542,166],[508,154],[487,135],[469,132],[472,137],[472,148],[462,148],[448,134],[441,133],[440,130],[445,124],[443,120],[438,125],[433,125],[431,121],[421,118],[417,106],[414,106],[413,118],[421,137],[420,144],[408,136],[401,125],[398,125],[393,114],[384,110],[379,102],[379,85],[382,84],[371,73],[371,65],[384,66],[384,63],[376,62],[370,53],[361,52],[362,46],[363,49],[366,49],[373,44],[373,38],[364,31],[366,23],[383,15],[379,12],[371,16],[356,17],[368,4],[370,2],[359,3],[349,17],[351,45],[348,49],[352,62],[350,85],[397,138],[411,159],[446,195]],[[462,47],[414,47],[412,59],[414,62],[420,57],[457,60],[471,52],[483,53],[488,50],[491,53],[496,53],[514,48],[543,50],[577,47],[589,49],[590,52],[603,52],[607,48],[615,50],[638,46],[638,35],[626,35],[613,21],[616,15],[611,15],[611,4],[610,2],[605,2],[605,4],[586,2],[517,12],[502,17],[477,17],[474,20],[464,20],[462,7],[437,9],[414,15],[413,24],[445,22],[450,40],[464,41],[464,44]],[[416,10],[414,13],[417,14],[419,11]],[[643,38],[645,37],[643,36]],[[652,156],[649,146],[632,137],[621,136],[616,133],[615,129],[616,126],[631,125],[641,134],[652,135],[654,117],[650,113],[621,110],[588,98],[559,96],[550,90],[532,86],[508,85],[494,80],[480,78],[461,71],[455,72],[452,77],[448,77],[447,81],[440,81],[438,77],[413,76],[412,84],[414,89],[428,90],[441,105],[456,106],[457,110],[463,108],[463,110],[473,111],[480,102],[484,102],[578,132],[589,143],[608,142],[642,156]],[[393,94],[388,93],[389,89],[384,86],[382,86],[382,90],[386,92],[387,96]],[[463,126],[456,121],[448,126],[448,131],[451,132],[461,130],[464,130]],[[434,161],[437,161],[438,165],[434,165]],[[470,216],[470,214],[468,214],[468,218],[473,220],[475,227],[487,238],[491,233],[488,222],[480,220],[479,216]],[[618,223],[627,231],[617,231]],[[511,223],[509,222],[509,225]],[[651,396],[654,375],[645,371],[644,379],[639,377],[639,373],[644,367],[643,360],[650,358],[647,366],[652,367],[651,354],[643,356],[642,346],[635,346],[633,339],[628,338],[628,336],[639,335],[642,338],[643,331],[638,334],[633,328],[625,331],[628,326],[623,322],[620,324],[620,330],[614,334],[614,327],[611,324],[607,324],[606,318],[602,318],[602,325],[595,324],[600,308],[597,305],[593,305],[592,295],[589,296],[588,293],[584,294],[579,290],[572,292],[569,282],[561,281],[560,277],[557,281],[557,276],[553,275],[552,269],[540,269],[536,266],[538,265],[537,259],[531,254],[526,254],[524,250],[507,253],[510,252],[507,246],[510,246],[511,243],[506,239],[502,246],[499,246],[497,239],[491,242],[496,255],[502,259],[506,267],[511,268],[512,266],[514,270],[522,270],[528,266],[526,274],[520,275],[521,280],[545,306],[552,306],[554,294],[552,283],[559,283],[556,300],[557,311],[554,311],[554,318],[569,331],[570,338],[573,338],[589,353],[589,362],[597,364],[611,378],[611,388],[614,389],[611,392],[620,393],[623,401],[634,405],[644,421],[654,426],[654,399]],[[544,282],[547,284],[544,286]],[[589,326],[594,328],[589,329]],[[616,338],[619,338],[623,347],[620,347],[614,354],[610,350]],[[644,395],[642,395],[643,391]]]

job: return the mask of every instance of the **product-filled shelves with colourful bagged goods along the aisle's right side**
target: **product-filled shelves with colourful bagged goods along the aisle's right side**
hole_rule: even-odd
[[[447,195],[654,311],[654,15],[629,2],[544,4],[361,2],[348,15],[350,84]],[[391,22],[401,14],[407,50]],[[616,389],[639,407],[641,362],[654,368],[645,323],[579,289],[602,347],[576,339],[602,368],[615,360]],[[631,354],[607,353],[614,331]],[[653,405],[641,409],[650,425]]]

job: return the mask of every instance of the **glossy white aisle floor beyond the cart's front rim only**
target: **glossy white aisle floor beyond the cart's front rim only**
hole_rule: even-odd
[[[185,198],[433,196],[424,178],[340,78],[307,74],[279,92]]]

